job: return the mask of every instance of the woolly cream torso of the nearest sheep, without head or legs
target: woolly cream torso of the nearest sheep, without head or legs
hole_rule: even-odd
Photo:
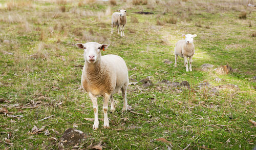
[[[129,83],[124,60],[117,55],[101,56],[94,64],[85,63],[82,71],[82,88],[93,95],[117,93],[124,84]]]

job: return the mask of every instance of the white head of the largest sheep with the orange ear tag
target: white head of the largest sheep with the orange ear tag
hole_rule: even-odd
[[[84,61],[89,63],[95,63],[100,60],[101,52],[100,50],[104,50],[109,47],[106,44],[98,44],[97,42],[87,42],[86,44],[78,43],[76,46],[79,49],[83,49],[83,57]]]

